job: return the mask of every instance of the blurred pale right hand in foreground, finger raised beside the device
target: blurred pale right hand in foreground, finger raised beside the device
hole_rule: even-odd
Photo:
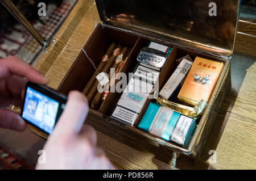
[[[104,152],[96,148],[96,132],[83,125],[88,114],[87,99],[71,91],[59,121],[44,146],[46,163],[36,169],[114,169]]]

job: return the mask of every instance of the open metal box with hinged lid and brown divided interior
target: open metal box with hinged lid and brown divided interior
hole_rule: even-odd
[[[226,92],[230,89],[229,59],[234,49],[239,1],[96,0],[96,5],[102,25],[98,24],[83,47],[96,66],[111,42],[132,48],[122,68],[124,73],[133,71],[139,51],[150,41],[174,47],[160,72],[160,87],[175,70],[175,60],[187,54],[192,60],[201,56],[224,62],[208,106],[187,149],[143,132],[136,126],[131,127],[110,118],[121,94],[108,94],[98,110],[90,108],[89,111],[90,120],[99,121],[116,130],[125,129],[127,134],[137,134],[138,141],[147,140],[153,144],[164,145],[177,153],[192,154],[193,157],[199,155],[221,109]],[[71,90],[82,91],[93,72],[93,66],[81,51],[57,90],[63,94],[68,94]],[[138,119],[142,118],[149,102],[150,100],[147,100]]]

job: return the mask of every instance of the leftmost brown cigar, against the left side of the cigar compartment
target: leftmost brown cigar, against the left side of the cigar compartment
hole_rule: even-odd
[[[97,66],[97,70],[99,72],[101,72],[101,70],[104,68],[104,66],[106,65],[106,62],[108,62],[109,60],[109,57],[111,56],[111,54],[113,53],[115,47],[117,47],[117,44],[115,43],[111,43],[108,50],[106,51],[106,53],[104,54],[104,56],[101,58],[101,62],[100,64]],[[84,90],[82,91],[85,95],[88,94],[90,88],[92,87],[93,83],[95,82],[96,80],[96,77],[97,76],[97,71],[94,71],[92,77],[90,77],[89,81],[87,82]]]

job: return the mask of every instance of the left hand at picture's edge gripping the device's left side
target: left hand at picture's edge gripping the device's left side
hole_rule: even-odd
[[[26,123],[13,111],[3,110],[13,104],[21,106],[27,81],[46,84],[48,80],[39,71],[17,57],[0,59],[0,127],[24,131]]]

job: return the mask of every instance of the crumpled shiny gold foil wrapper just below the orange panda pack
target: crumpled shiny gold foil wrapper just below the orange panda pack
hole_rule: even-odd
[[[193,119],[197,119],[207,106],[207,103],[204,100],[201,100],[195,107],[184,106],[162,98],[156,98],[156,100],[162,106],[170,108],[171,110],[179,112],[185,116],[192,117]]]

